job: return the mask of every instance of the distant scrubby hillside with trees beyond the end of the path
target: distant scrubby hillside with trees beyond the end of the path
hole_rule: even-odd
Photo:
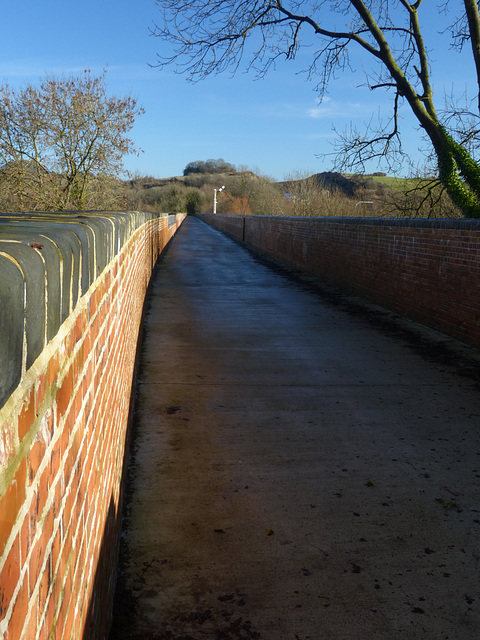
[[[197,161],[198,162],[198,161]],[[211,162],[211,161],[207,161]],[[223,160],[221,161],[224,162]],[[434,178],[402,179],[386,176],[322,172],[294,175],[282,182],[237,170],[187,170],[183,176],[156,179],[137,177],[128,182],[128,206],[158,212],[242,215],[461,217],[442,185]],[[204,163],[201,166],[205,166]],[[225,187],[218,191],[220,187]]]

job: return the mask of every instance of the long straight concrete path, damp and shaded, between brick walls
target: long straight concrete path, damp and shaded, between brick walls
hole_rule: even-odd
[[[478,369],[447,351],[188,218],[146,318],[112,638],[478,640]]]

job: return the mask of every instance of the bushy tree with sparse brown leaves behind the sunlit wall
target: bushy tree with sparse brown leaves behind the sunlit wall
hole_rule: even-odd
[[[136,153],[127,134],[142,113],[134,98],[107,95],[105,71],[1,86],[0,191],[6,186],[10,206],[22,209],[111,206],[123,157]]]

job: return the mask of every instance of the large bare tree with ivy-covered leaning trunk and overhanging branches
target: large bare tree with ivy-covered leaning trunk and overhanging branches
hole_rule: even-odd
[[[242,64],[262,76],[301,47],[312,45],[308,77],[320,98],[335,75],[363,51],[371,61],[367,84],[390,91],[386,122],[352,128],[340,136],[337,166],[362,167],[368,160],[402,156],[399,113],[407,105],[430,141],[439,180],[465,216],[480,216],[480,167],[475,159],[480,109],[439,111],[421,28],[423,0],[157,0],[163,19],[154,34],[173,45],[160,66],[176,63],[191,80]],[[480,19],[477,0],[442,3],[454,45],[471,44],[480,94]],[[163,45],[162,45],[163,46]],[[453,53],[452,53],[453,55]],[[468,124],[465,124],[468,121]],[[468,144],[466,144],[466,140]]]

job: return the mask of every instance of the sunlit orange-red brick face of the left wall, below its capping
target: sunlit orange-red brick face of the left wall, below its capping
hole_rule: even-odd
[[[0,410],[3,640],[108,632],[137,336],[182,221],[133,231]]]

